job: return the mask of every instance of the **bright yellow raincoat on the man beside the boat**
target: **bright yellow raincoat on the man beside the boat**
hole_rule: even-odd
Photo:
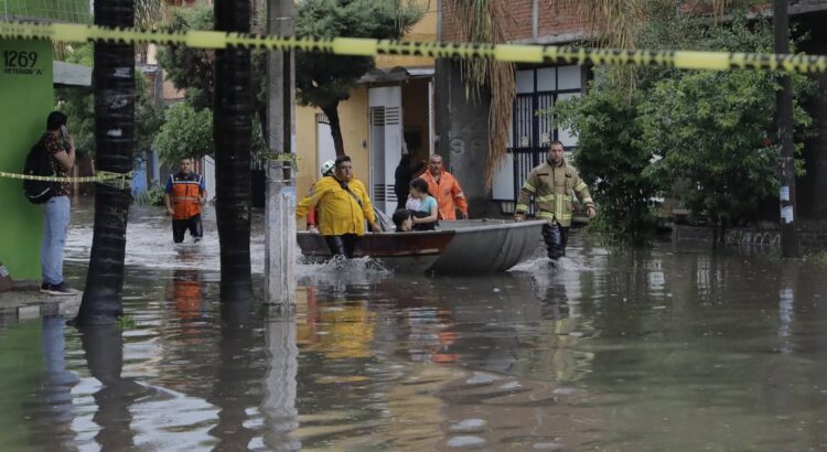
[[[347,183],[353,195],[342,187],[334,176],[319,180],[310,196],[301,200],[296,207],[296,217],[301,218],[319,205],[319,233],[323,236],[343,234],[365,235],[365,219],[374,223],[374,206],[367,190],[355,177]],[[355,195],[355,196],[354,196]],[[356,198],[359,201],[357,202]],[[359,205],[359,202],[362,205]]]

